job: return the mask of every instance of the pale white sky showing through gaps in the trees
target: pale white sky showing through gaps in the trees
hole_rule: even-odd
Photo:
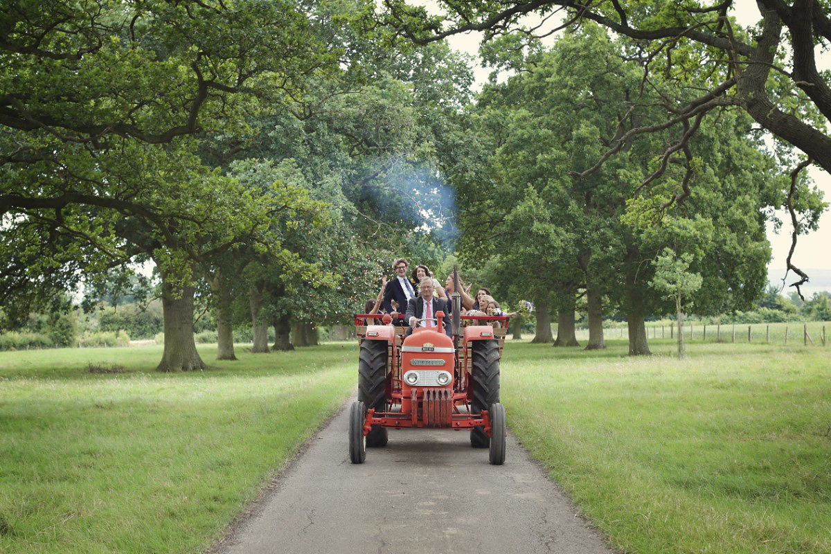
[[[413,3],[420,3],[430,10],[437,9],[435,2],[432,0]],[[753,0],[736,0],[733,15],[735,15],[736,20],[740,24],[745,26],[755,24],[760,18],[759,9]],[[531,20],[529,20],[529,23],[531,23]],[[455,50],[464,51],[471,56],[477,55],[479,40],[479,33],[455,35],[449,38],[450,47]],[[820,71],[831,70],[831,50],[823,52],[818,49],[817,62]],[[474,67],[477,86],[482,86],[488,80],[489,73],[489,68],[481,66]],[[825,201],[831,202],[831,174],[824,172],[817,166],[809,168],[808,174],[814,180],[814,184],[820,190],[824,191]],[[779,234],[774,233],[773,225],[768,225],[768,240],[770,240],[773,251],[773,259],[768,266],[771,281],[778,281],[784,277],[785,261],[788,257],[790,235],[792,232],[789,214],[781,210],[777,215],[784,222],[781,232]],[[822,218],[820,218],[818,231],[799,236],[794,257],[791,261],[800,269],[824,269],[831,271],[831,210],[826,210]]]

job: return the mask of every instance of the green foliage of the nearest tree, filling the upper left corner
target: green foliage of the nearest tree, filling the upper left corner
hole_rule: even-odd
[[[282,199],[202,164],[200,140],[244,141],[250,117],[301,102],[342,53],[321,40],[314,3],[77,8],[18,2],[4,15],[0,302],[11,321],[136,254],[175,288],[194,260],[268,241],[258,230]]]

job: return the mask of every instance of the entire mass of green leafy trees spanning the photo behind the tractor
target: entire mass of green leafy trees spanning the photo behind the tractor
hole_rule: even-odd
[[[550,308],[573,328],[585,302],[602,347],[603,316],[637,338],[671,310],[647,287],[664,248],[719,313],[762,294],[774,208],[816,227],[799,169],[831,170],[822,2],[760,2],[756,29],[729,1],[439,4],[11,2],[2,325],[152,260],[160,369],[194,369],[194,299],[233,358],[235,325],[255,350],[268,326],[288,347],[290,328],[361,311],[396,257],[437,270],[458,253],[504,299],[532,297],[543,327]],[[553,47],[528,14],[564,15]],[[478,94],[443,40],[471,30],[511,74]]]

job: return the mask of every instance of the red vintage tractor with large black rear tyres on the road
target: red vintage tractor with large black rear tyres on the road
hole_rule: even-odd
[[[393,326],[391,316],[383,316],[382,325],[366,327],[363,321],[378,316],[356,316],[361,350],[358,400],[349,412],[352,463],[364,462],[366,447],[385,446],[388,427],[470,429],[471,446],[489,448],[490,463],[504,463],[507,430],[499,404],[499,358],[508,317],[464,316],[479,325],[460,327],[459,287],[455,290],[453,338],[441,332],[449,323],[442,311],[431,320],[436,327],[420,327],[421,320],[403,342],[403,328]],[[505,327],[487,321],[504,321]]]

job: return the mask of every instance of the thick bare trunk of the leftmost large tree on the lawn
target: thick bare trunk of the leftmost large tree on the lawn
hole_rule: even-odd
[[[204,370],[194,341],[194,287],[165,281],[162,272],[161,303],[165,316],[165,351],[156,371]]]

